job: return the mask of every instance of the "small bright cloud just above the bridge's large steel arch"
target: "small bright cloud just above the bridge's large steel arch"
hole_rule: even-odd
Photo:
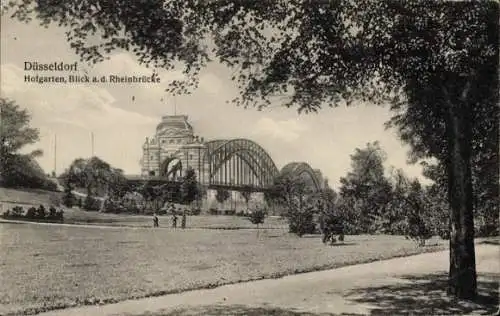
[[[273,120],[263,117],[257,121],[254,134],[292,142],[299,138],[301,133],[306,130],[307,127],[296,119]]]

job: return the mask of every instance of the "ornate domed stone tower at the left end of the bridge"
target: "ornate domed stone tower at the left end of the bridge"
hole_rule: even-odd
[[[176,180],[182,176],[183,170],[193,165],[191,160],[201,159],[201,157],[193,156],[190,149],[193,145],[203,147],[203,144],[194,136],[193,127],[189,124],[187,115],[163,116],[156,126],[155,135],[152,138],[146,138],[143,145],[142,175]],[[196,165],[198,164],[197,161]]]

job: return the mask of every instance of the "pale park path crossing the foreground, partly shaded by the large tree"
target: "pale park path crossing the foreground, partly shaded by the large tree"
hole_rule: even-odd
[[[449,253],[443,251],[40,315],[492,315],[498,307],[499,255],[498,245],[476,245],[481,304],[452,302],[445,295]]]

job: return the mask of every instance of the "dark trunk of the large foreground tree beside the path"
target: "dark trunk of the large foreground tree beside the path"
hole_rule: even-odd
[[[471,123],[466,102],[468,88],[462,98],[448,103],[448,199],[450,203],[450,270],[448,294],[461,299],[477,295],[476,259],[474,251],[474,213],[471,176]],[[448,98],[451,101],[451,98]]]

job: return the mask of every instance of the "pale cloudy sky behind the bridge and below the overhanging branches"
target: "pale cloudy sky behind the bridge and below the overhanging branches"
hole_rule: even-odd
[[[320,169],[334,188],[349,171],[355,148],[377,140],[387,153],[387,167],[402,168],[407,175],[421,178],[421,167],[406,163],[409,147],[401,143],[395,130],[384,127],[391,117],[387,106],[355,104],[300,115],[278,103],[263,111],[239,108],[226,102],[238,91],[230,80],[230,70],[220,64],[211,64],[202,72],[193,94],[176,98],[167,95],[165,88],[170,80],[180,78],[179,71],[160,72],[159,84],[25,83],[25,62],[72,63],[79,57],[66,42],[62,28],[24,24],[6,16],[1,26],[1,96],[31,113],[40,141],[27,149],[44,151],[38,161],[47,172],[55,168],[60,173],[75,158],[90,157],[93,133],[96,156],[126,174],[139,174],[145,138],[154,135],[162,115],[175,111],[188,115],[195,134],[205,140],[253,140],[278,168],[289,162],[307,162]],[[79,63],[78,71],[98,76],[152,73],[128,52],[115,53],[93,66]]]

